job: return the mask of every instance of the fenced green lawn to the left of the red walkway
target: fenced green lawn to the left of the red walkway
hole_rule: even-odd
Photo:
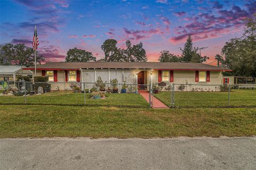
[[[24,96],[0,96],[0,104],[25,104]],[[54,91],[43,95],[27,96],[27,104],[84,105],[84,94]],[[149,107],[139,94],[106,94],[106,99],[91,99],[86,94],[85,106]]]

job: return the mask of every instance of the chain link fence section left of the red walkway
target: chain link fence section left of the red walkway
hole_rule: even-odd
[[[0,90],[0,104],[149,107],[138,92],[145,84],[18,81]]]

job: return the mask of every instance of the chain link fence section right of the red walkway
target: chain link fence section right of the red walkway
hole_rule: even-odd
[[[155,84],[153,93],[169,107],[256,107],[256,84]]]

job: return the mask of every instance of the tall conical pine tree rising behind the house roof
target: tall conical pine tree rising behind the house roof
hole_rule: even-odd
[[[192,43],[192,38],[189,35],[187,42],[184,45],[184,49],[181,49],[182,55],[181,55],[181,61],[182,62],[191,62],[193,58],[193,43]]]

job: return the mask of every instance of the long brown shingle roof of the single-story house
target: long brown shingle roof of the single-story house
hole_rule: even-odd
[[[34,66],[25,70],[34,70]],[[160,63],[160,62],[53,62],[37,65],[37,70],[79,70],[79,69],[155,69],[155,70],[209,70],[231,71],[203,63]]]

